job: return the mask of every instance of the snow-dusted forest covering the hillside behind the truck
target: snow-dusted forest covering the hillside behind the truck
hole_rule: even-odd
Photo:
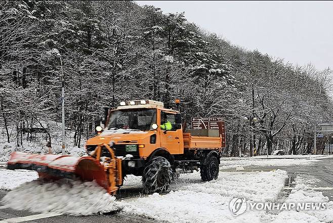
[[[1,1],[1,140],[23,146],[38,125],[53,146],[62,70],[76,147],[95,135],[104,107],[127,100],[180,99],[185,128],[191,117],[224,116],[225,156],[311,153],[315,127],[333,119],[329,68],[234,46],[184,13],[132,1]]]

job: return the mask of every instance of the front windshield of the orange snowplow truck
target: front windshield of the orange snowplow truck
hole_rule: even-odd
[[[156,109],[130,109],[113,111],[108,129],[150,130],[156,123]]]

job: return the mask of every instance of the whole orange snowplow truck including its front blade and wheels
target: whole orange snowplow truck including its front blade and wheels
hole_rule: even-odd
[[[128,174],[142,176],[146,193],[167,190],[180,172],[200,169],[202,181],[219,175],[222,136],[183,132],[181,114],[162,102],[121,102],[108,112],[105,128],[96,130],[86,142],[86,156],[13,152],[8,169],[36,170],[46,180],[95,180],[112,195]]]

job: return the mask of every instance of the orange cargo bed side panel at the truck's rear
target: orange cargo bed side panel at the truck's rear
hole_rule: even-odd
[[[222,147],[222,137],[198,137],[183,133],[184,149],[216,149]]]

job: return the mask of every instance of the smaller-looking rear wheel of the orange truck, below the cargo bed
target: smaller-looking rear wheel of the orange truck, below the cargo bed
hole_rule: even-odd
[[[210,156],[205,164],[200,165],[200,175],[202,181],[218,179],[219,161],[216,156]]]

